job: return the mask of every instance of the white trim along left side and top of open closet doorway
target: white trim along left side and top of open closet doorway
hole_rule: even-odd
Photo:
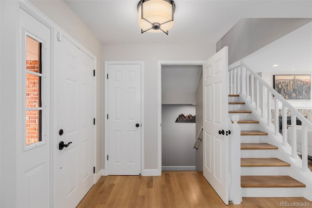
[[[157,175],[161,175],[161,66],[162,65],[203,65],[205,61],[158,61],[157,67]]]

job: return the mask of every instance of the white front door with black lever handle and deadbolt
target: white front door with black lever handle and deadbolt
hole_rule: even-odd
[[[94,184],[94,60],[63,36],[55,41],[54,64],[55,206],[69,208],[76,207]]]

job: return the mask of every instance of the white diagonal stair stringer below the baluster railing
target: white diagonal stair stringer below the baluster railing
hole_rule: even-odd
[[[312,171],[309,168],[307,168],[307,170],[303,170],[302,160],[300,159],[298,155],[296,155],[295,158],[292,157],[292,151],[291,151],[292,147],[288,143],[286,144],[286,146],[283,145],[282,143],[283,137],[280,133],[278,133],[277,135],[274,133],[273,125],[270,125],[270,126],[264,125],[266,121],[264,121],[261,118],[260,116],[261,112],[255,110],[255,107],[254,107],[255,105],[250,103],[250,97],[249,98],[248,97],[245,97],[241,94],[239,95],[239,99],[245,102],[246,110],[252,111],[253,117],[255,117],[259,121],[259,125],[261,126],[261,129],[263,129],[264,131],[268,133],[267,143],[278,147],[278,149],[276,149],[276,151],[278,151],[277,155],[279,155],[278,158],[291,164],[291,166],[289,167],[290,168],[289,176],[291,176],[292,178],[306,185],[306,187],[300,188],[302,190],[301,196],[312,201]],[[243,196],[245,195],[243,194]],[[280,195],[277,195],[276,197],[278,196]],[[288,194],[287,196],[290,197]],[[296,194],[293,195],[293,197],[297,197],[297,196],[298,196],[298,191],[296,192]]]

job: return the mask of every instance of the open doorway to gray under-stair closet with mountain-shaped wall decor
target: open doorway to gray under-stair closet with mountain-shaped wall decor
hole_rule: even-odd
[[[160,170],[198,170],[198,168],[202,170],[202,162],[196,167],[196,158],[201,158],[202,161],[202,154],[199,156],[197,150],[193,148],[197,122],[202,123],[200,120],[196,121],[196,91],[198,84],[199,88],[202,88],[201,74],[201,61],[159,62],[158,162],[160,165],[158,165]],[[202,89],[198,96],[202,97]]]

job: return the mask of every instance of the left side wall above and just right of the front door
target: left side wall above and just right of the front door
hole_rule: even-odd
[[[62,0],[29,0],[37,9],[40,10],[54,23],[59,25],[65,32],[72,36],[77,42],[86,47],[97,57],[97,172],[102,169],[101,140],[104,140],[103,125],[101,124],[101,102],[100,102],[100,83],[103,72],[103,62],[101,62],[101,43],[91,33],[85,24],[83,24],[74,12]]]

